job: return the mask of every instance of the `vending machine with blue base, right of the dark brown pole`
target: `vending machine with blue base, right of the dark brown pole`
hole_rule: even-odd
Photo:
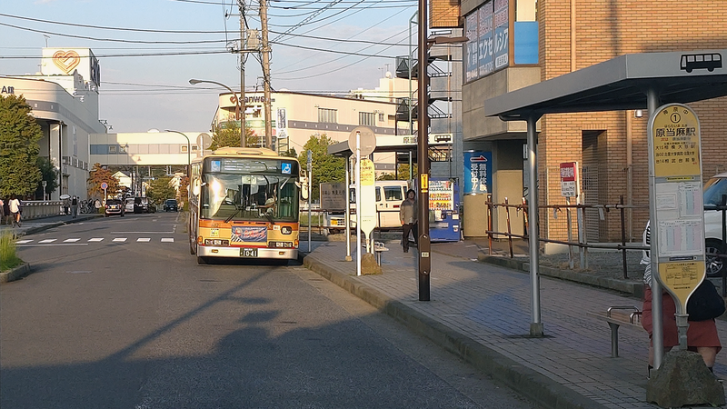
[[[429,236],[433,242],[460,240],[459,188],[453,179],[429,180]]]

